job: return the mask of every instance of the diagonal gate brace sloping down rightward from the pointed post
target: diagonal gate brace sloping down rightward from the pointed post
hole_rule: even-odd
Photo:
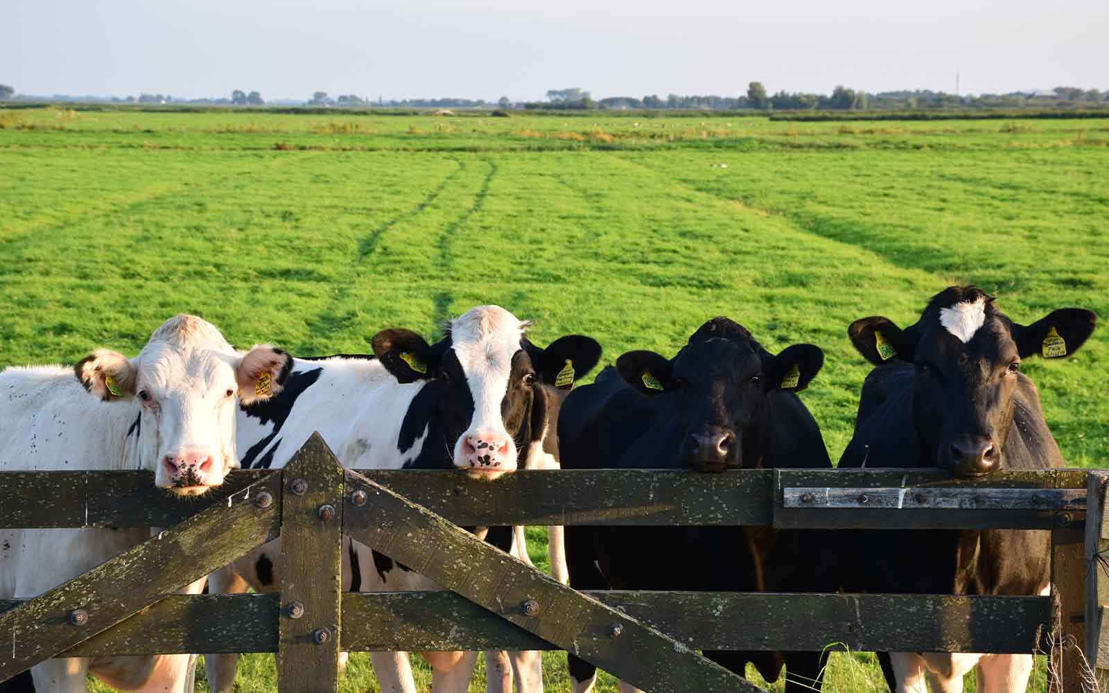
[[[621,681],[657,692],[759,691],[688,645],[499,551],[353,471],[344,530],[416,572],[567,649]],[[357,522],[350,519],[357,518]],[[357,529],[354,529],[354,527]]]

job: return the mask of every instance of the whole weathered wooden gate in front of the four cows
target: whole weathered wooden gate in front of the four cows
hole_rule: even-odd
[[[167,529],[33,600],[0,601],[0,681],[53,656],[276,652],[283,692],[334,691],[340,650],[560,649],[648,691],[753,692],[698,650],[1047,652],[1067,638],[1081,645],[1083,634],[1105,677],[1107,473],[968,482],[929,470],[520,471],[489,483],[451,471],[344,470],[318,436],[283,470],[233,472],[195,502],[157,491],[149,472],[4,472],[0,527]],[[1055,590],[578,592],[459,524],[1046,529]],[[450,591],[342,593],[344,533]],[[278,536],[279,594],[172,594]],[[1080,650],[1057,652],[1056,690],[1082,691]]]

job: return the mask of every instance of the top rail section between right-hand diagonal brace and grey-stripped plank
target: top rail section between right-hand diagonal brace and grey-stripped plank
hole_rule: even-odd
[[[772,509],[771,473],[755,469],[523,470],[494,483],[462,471],[358,473],[460,526],[769,524]]]

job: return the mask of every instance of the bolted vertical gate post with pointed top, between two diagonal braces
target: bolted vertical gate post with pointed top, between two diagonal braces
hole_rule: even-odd
[[[319,437],[282,471],[277,690],[338,690],[343,468]]]

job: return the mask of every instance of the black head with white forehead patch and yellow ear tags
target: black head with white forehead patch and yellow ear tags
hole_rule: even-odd
[[[847,335],[872,364],[915,366],[913,415],[924,462],[973,478],[1005,466],[1016,394],[1031,385],[1020,360],[1074,354],[1096,322],[1091,310],[1060,308],[1018,325],[978,287],[952,286],[904,330],[888,318],[866,317]]]

